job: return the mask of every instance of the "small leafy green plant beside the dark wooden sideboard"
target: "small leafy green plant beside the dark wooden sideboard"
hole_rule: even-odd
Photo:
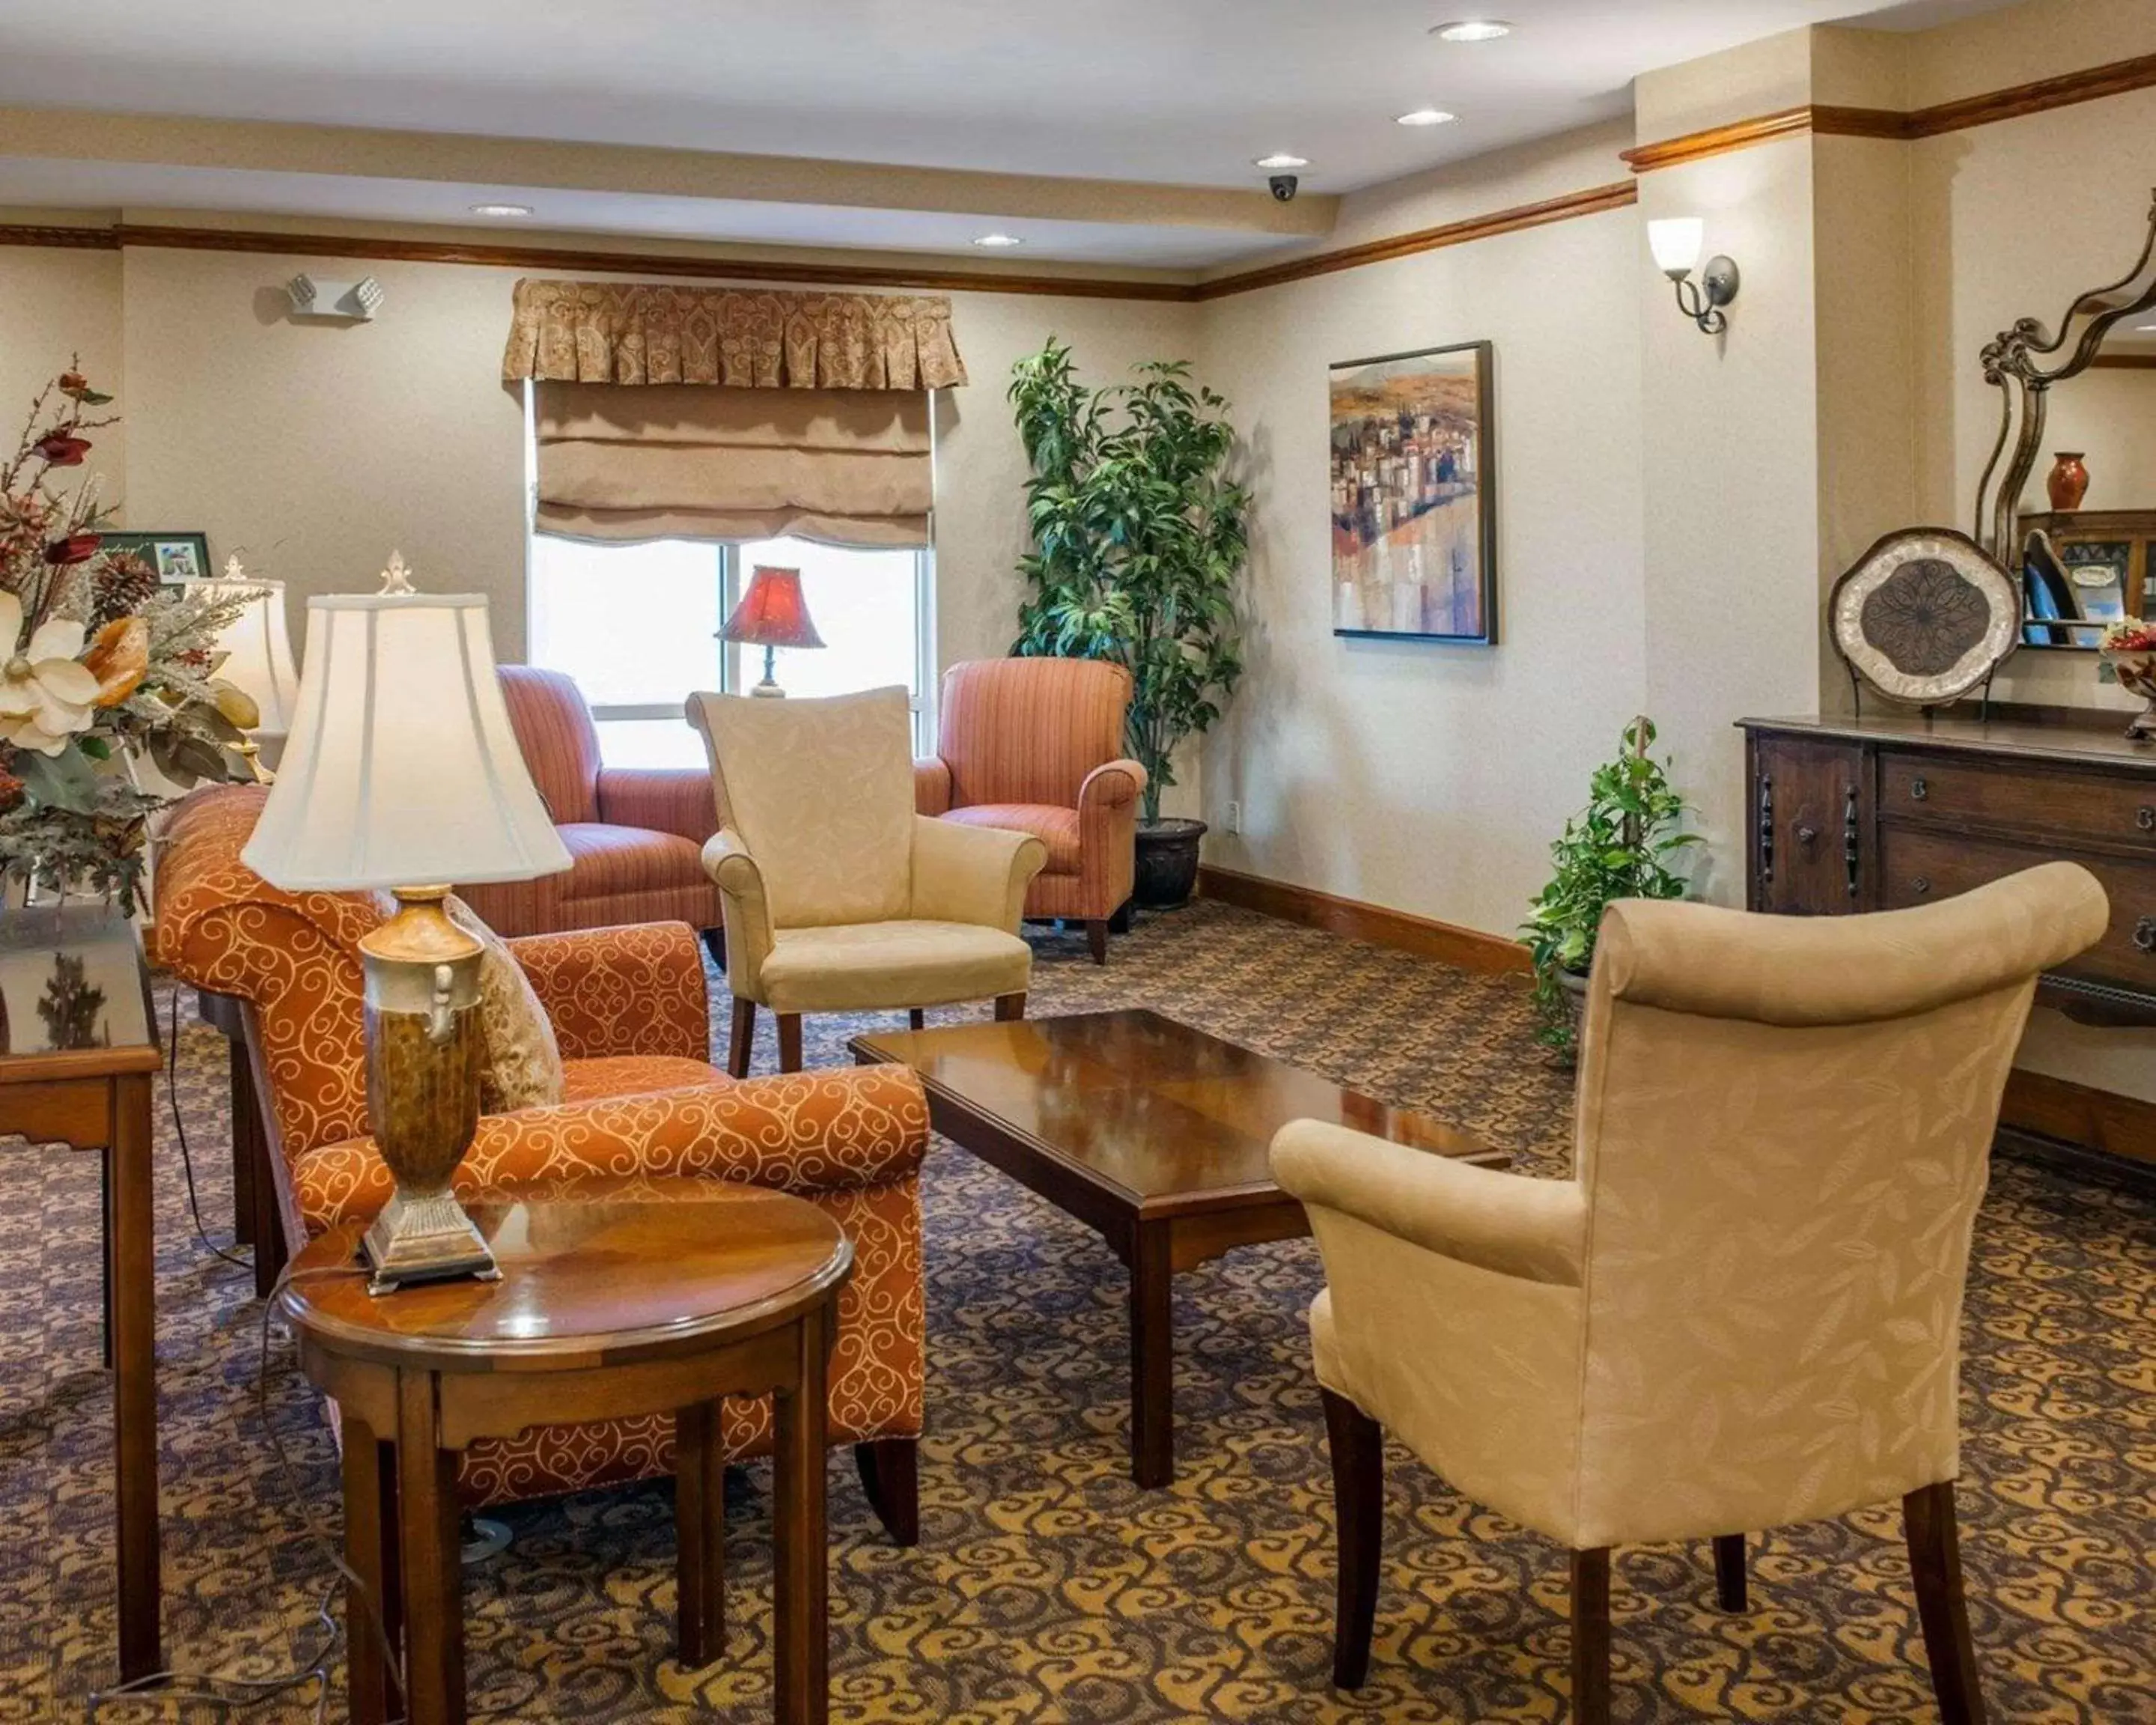
[[[1572,1057],[1578,1044],[1587,972],[1595,960],[1602,912],[1617,899],[1682,899],[1684,875],[1669,860],[1697,832],[1680,832],[1686,804],[1669,787],[1669,768],[1647,750],[1654,720],[1645,714],[1623,727],[1623,753],[1595,768],[1587,806],[1565,822],[1550,845],[1557,865],[1535,895],[1520,934],[1535,960],[1535,1039]]]

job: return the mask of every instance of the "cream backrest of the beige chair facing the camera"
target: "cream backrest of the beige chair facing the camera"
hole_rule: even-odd
[[[903,688],[821,701],[692,694],[718,824],[763,871],[772,925],[912,912],[914,759]]]

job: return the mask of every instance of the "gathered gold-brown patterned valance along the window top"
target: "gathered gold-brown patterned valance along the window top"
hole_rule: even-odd
[[[942,295],[520,280],[502,377],[942,390],[966,362]]]

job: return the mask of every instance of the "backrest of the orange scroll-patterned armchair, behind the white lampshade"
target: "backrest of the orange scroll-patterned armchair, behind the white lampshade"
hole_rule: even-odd
[[[360,938],[377,893],[287,893],[246,862],[257,785],[196,791],[157,847],[157,962],[194,988],[254,1005],[285,1156],[367,1134]]]

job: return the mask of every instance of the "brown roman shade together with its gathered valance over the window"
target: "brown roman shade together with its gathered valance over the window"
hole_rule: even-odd
[[[951,302],[522,280],[502,375],[537,408],[541,533],[925,546]]]

